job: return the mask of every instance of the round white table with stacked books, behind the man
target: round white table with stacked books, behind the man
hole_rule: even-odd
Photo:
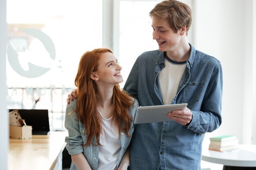
[[[238,149],[224,152],[204,148],[202,160],[223,164],[223,170],[256,170],[256,145],[238,145]]]

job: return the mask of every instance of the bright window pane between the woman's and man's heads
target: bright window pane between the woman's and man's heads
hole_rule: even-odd
[[[114,53],[123,67],[124,86],[137,57],[144,51],[158,49],[152,39],[149,12],[162,0],[114,1]]]

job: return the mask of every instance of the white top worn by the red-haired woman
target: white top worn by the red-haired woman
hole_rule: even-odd
[[[99,111],[99,110],[98,110]],[[99,111],[100,113],[100,111]],[[106,119],[102,116],[99,147],[99,163],[97,170],[116,170],[117,160],[121,150],[119,131],[115,124],[112,124],[112,117]]]

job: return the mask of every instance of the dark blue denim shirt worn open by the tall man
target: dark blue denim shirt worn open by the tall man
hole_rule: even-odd
[[[188,126],[175,121],[136,124],[130,150],[130,170],[200,170],[206,132],[221,124],[222,68],[220,62],[191,47],[189,60],[172,104],[188,103]],[[124,90],[141,106],[163,105],[157,75],[164,52],[148,51],[136,60]],[[167,93],[167,92],[166,92]]]

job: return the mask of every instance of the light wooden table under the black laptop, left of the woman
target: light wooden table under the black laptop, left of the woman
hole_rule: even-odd
[[[32,139],[9,139],[8,170],[56,170],[62,160],[67,132],[32,135]],[[62,167],[62,166],[61,166]]]

